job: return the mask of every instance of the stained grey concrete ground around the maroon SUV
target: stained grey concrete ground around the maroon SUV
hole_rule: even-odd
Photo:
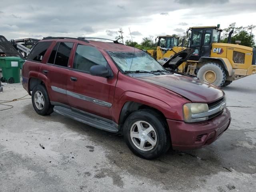
[[[27,94],[21,84],[3,88],[0,100]],[[31,99],[7,103],[14,107],[0,111],[0,191],[255,192],[256,75],[223,90],[230,128],[210,146],[156,160],[132,154],[122,136],[55,112],[40,116]]]

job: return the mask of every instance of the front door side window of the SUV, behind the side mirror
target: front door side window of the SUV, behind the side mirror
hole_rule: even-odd
[[[73,68],[89,72],[94,65],[106,67],[107,61],[98,49],[86,45],[78,45]]]

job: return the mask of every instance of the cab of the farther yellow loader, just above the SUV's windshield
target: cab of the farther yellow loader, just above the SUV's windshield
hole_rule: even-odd
[[[158,36],[158,46],[162,48],[163,53],[179,44],[179,38],[174,36]]]

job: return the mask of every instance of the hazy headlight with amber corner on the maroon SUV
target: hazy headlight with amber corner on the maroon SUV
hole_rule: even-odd
[[[201,122],[208,120],[208,117],[192,118],[192,114],[208,112],[209,108],[206,103],[186,103],[183,105],[184,121],[187,123]]]

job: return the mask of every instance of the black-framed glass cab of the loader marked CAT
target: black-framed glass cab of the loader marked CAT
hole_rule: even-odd
[[[222,32],[219,26],[191,27],[187,33],[189,31],[191,31],[191,35],[188,47],[194,50],[189,60],[194,61],[198,61],[201,57],[210,56],[212,43],[220,42],[220,32]]]

